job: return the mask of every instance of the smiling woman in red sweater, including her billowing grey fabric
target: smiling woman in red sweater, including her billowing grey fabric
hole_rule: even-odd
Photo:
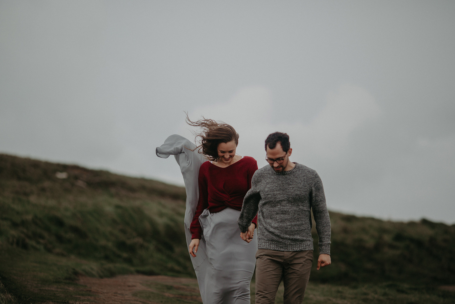
[[[256,218],[248,229],[250,243],[240,238],[237,219],[257,162],[235,153],[238,134],[233,127],[210,119],[192,122],[187,117],[187,122],[202,128],[197,135],[201,145],[174,134],[157,147],[157,156],[175,155],[183,174],[185,233],[202,302],[249,304],[258,249]]]

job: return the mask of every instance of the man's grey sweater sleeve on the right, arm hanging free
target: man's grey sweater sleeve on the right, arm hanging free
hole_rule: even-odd
[[[319,254],[330,254],[330,218],[327,205],[325,203],[324,187],[318,173],[314,172],[314,182],[312,186],[311,207],[313,208],[316,231],[319,237]]]

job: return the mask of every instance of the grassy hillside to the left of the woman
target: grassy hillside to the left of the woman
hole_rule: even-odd
[[[69,176],[58,179],[56,172]],[[22,295],[54,301],[54,291],[36,289],[24,278],[51,284],[62,278],[61,271],[68,278],[194,276],[183,232],[182,187],[0,155],[0,193],[0,281],[19,301]],[[34,270],[56,260],[55,267],[40,268],[42,274]]]

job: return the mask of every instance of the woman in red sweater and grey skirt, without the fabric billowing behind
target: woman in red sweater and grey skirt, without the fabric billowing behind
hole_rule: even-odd
[[[248,238],[253,239],[250,243],[239,237],[237,219],[258,164],[253,157],[236,154],[239,136],[230,125],[211,119],[191,122],[187,118],[187,122],[203,129],[197,135],[201,138],[198,148],[208,159],[199,169],[199,199],[190,226],[190,254],[196,257],[203,239],[212,266],[205,282],[207,297],[211,298],[208,303],[249,304],[258,247],[253,238],[257,218],[248,229]]]

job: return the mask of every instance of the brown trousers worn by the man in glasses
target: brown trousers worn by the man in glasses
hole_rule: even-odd
[[[310,278],[313,250],[256,253],[256,304],[274,304],[281,279],[284,304],[302,304]]]

